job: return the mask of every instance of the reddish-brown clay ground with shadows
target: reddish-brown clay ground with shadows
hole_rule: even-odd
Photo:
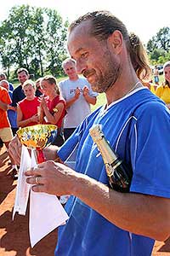
[[[57,230],[31,248],[28,236],[28,214],[20,216],[16,213],[12,221],[17,182],[10,177],[10,172],[8,155],[3,148],[0,151],[0,256],[54,256]],[[170,239],[166,242],[156,241],[152,256],[170,256]]]

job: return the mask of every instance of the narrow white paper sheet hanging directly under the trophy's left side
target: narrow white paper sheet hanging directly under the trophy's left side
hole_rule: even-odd
[[[26,183],[26,176],[24,175],[24,172],[26,172],[26,170],[29,168],[31,168],[31,157],[28,149],[24,145],[22,145],[20,156],[20,170],[14,201],[13,220],[15,212],[19,212],[20,215],[26,215],[26,207],[28,203],[31,185]]]

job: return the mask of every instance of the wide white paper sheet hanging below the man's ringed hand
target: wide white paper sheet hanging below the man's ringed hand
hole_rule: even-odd
[[[31,191],[30,201],[30,241],[31,247],[61,224],[68,215],[57,196]]]

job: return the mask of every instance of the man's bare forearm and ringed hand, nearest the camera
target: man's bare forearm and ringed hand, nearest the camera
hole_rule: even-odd
[[[164,241],[170,235],[170,200],[150,195],[119,193],[87,175],[48,161],[26,172],[27,182],[41,185],[32,189],[53,195],[76,195],[111,223],[135,234]]]

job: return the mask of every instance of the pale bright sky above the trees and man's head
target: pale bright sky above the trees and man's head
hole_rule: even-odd
[[[57,9],[65,20],[75,20],[79,15],[96,9],[110,10],[122,20],[129,32],[135,32],[144,44],[163,26],[170,26],[170,0],[5,0],[1,4],[0,20],[8,17],[14,5],[29,4]]]

